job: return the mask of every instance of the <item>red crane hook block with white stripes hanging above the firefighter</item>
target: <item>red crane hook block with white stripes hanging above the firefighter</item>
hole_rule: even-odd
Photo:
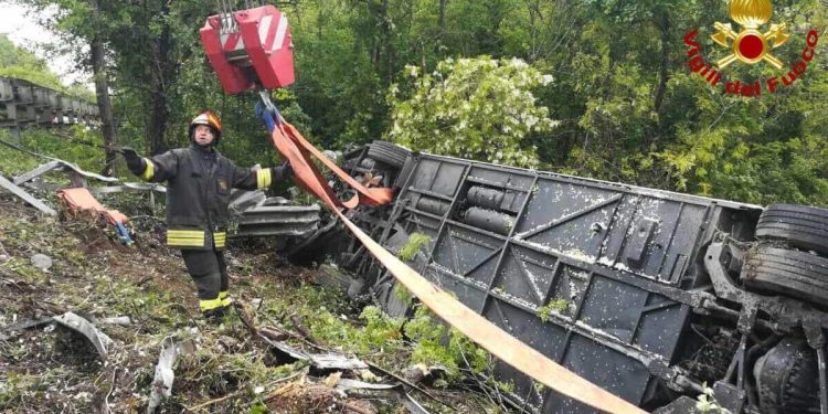
[[[211,15],[199,33],[225,93],[294,83],[290,28],[275,7]]]

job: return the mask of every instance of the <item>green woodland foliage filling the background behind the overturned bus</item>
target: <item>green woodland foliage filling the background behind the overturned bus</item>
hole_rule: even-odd
[[[95,14],[88,2],[19,2],[56,7],[60,43],[105,41],[119,144],[148,151],[157,132],[168,147],[185,145],[187,124],[210,107],[225,120],[224,153],[240,164],[280,162],[253,115],[255,96],[225,95],[205,62],[198,30],[215,10],[191,0],[113,1]],[[793,87],[758,99],[723,95],[688,71],[682,38],[699,29],[705,59],[721,57],[710,34],[726,20],[726,2],[280,6],[297,81],[274,100],[321,147],[385,136],[413,149],[666,190],[828,205],[826,42]],[[828,26],[817,0],[774,2],[773,21],[792,28],[774,51],[788,66],[807,30]],[[480,55],[491,57],[471,57]],[[89,66],[83,53],[75,61]],[[56,86],[44,70],[0,38],[0,74]],[[725,75],[764,79],[786,70],[734,64]]]

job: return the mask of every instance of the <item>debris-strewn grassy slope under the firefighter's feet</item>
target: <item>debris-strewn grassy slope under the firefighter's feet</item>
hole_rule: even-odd
[[[478,355],[439,344],[446,331],[422,317],[403,323],[315,285],[320,270],[287,264],[266,241],[231,243],[236,311],[211,325],[157,221],[136,223],[127,247],[100,223],[44,219],[8,193],[0,210],[0,413],[510,410],[464,375],[470,367],[405,380],[416,363]],[[35,254],[51,258],[47,273]]]

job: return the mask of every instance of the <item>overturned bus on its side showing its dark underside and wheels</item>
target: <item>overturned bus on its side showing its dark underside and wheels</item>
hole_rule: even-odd
[[[733,413],[828,414],[828,211],[767,208],[614,182],[410,153],[374,141],[344,155],[395,201],[350,211],[408,265],[578,375],[645,408],[691,412],[712,389]],[[342,194],[347,197],[347,194]],[[395,279],[336,222],[289,246],[328,254],[392,316]],[[592,408],[507,364],[539,413]],[[709,392],[709,391],[708,391]]]

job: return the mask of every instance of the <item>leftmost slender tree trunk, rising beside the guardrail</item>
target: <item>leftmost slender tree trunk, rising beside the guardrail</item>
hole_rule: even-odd
[[[99,6],[97,0],[89,0],[89,7],[92,8],[93,20],[97,21],[99,14]],[[106,73],[106,51],[104,49],[104,41],[95,35],[89,42],[89,49],[92,52],[92,72],[95,77],[95,96],[98,102],[98,112],[100,113],[102,132],[104,135],[104,147],[106,153],[106,163],[104,169],[100,171],[102,176],[113,177],[115,170],[115,121],[113,118],[113,103],[109,99],[109,79]]]

